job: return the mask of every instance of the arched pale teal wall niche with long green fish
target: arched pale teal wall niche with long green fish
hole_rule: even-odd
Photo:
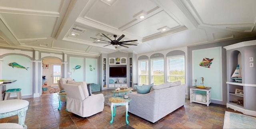
[[[26,56],[20,55],[9,55],[3,58],[2,62],[2,78],[17,80],[14,83],[6,85],[7,89],[21,88],[22,95],[32,95],[32,63],[31,60]],[[16,62],[24,67],[29,67],[26,69],[11,67],[8,64],[11,62]],[[16,93],[12,93],[10,96],[16,96]]]

